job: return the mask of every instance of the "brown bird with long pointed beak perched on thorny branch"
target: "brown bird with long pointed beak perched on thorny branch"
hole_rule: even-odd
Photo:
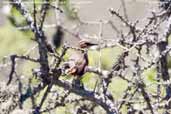
[[[93,43],[87,39],[79,39],[76,43],[76,48],[73,48],[73,53],[67,62],[64,63],[64,73],[74,77],[72,80],[73,86],[84,88],[81,79],[86,73],[86,68],[89,64],[88,49],[97,45],[97,43]]]

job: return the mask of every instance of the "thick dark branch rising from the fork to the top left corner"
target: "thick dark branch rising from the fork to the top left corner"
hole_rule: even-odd
[[[43,30],[40,26],[35,25],[35,20],[32,18],[29,11],[26,9],[25,5],[21,2],[21,0],[11,0],[13,3],[12,5],[15,6],[18,11],[26,18],[26,22],[30,26],[30,29],[34,32],[36,41],[39,47],[39,55],[40,55],[40,65],[41,70],[44,72],[41,76],[44,82],[46,82],[47,74],[49,72],[49,65],[48,65],[48,56],[47,56],[47,49],[46,49],[46,37],[44,35]],[[36,13],[36,12],[34,12]]]

